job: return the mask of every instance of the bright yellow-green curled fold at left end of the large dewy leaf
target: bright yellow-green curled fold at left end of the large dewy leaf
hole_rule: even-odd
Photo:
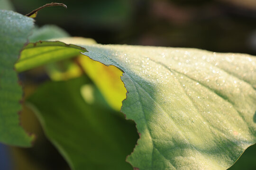
[[[63,38],[65,42],[76,42],[77,44],[93,44],[91,38]],[[18,72],[26,71],[38,66],[53,63],[59,60],[76,57],[80,52],[86,51],[85,48],[73,44],[66,44],[59,41],[39,41],[29,43],[21,52],[20,59],[15,64]]]

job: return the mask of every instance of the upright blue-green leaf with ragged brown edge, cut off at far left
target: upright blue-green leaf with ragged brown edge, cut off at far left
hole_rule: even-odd
[[[30,146],[28,136],[19,124],[22,89],[14,64],[33,28],[33,19],[18,13],[0,10],[0,142]]]

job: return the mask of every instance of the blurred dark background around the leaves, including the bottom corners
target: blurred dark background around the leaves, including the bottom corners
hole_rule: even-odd
[[[0,8],[13,8],[25,15],[52,0],[10,0],[9,5],[7,2],[0,0]],[[53,7],[39,11],[37,26],[56,25],[63,28],[65,34],[93,38],[102,44],[191,47],[256,55],[256,0],[55,2],[64,3],[68,8]],[[47,79],[40,70],[36,74],[26,73],[25,76],[37,84]],[[69,170],[64,159],[47,141],[32,111],[23,112],[24,126],[37,134],[37,141],[29,149],[0,145],[0,170]],[[10,159],[7,159],[7,153]],[[256,145],[247,149],[230,168],[241,169],[256,170]]]

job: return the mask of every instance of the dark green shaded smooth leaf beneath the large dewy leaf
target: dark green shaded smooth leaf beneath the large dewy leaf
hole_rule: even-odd
[[[95,88],[89,82],[85,77],[48,82],[29,101],[39,110],[46,136],[73,170],[132,170],[125,159],[138,138],[135,125],[101,105],[97,89],[88,92]],[[80,93],[84,85],[92,86],[85,87],[89,103]]]

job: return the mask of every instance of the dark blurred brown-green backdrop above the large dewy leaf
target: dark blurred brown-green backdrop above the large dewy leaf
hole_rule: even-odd
[[[27,14],[52,0],[11,0]],[[38,12],[54,24],[102,44],[192,47],[256,54],[256,0],[56,0]]]

